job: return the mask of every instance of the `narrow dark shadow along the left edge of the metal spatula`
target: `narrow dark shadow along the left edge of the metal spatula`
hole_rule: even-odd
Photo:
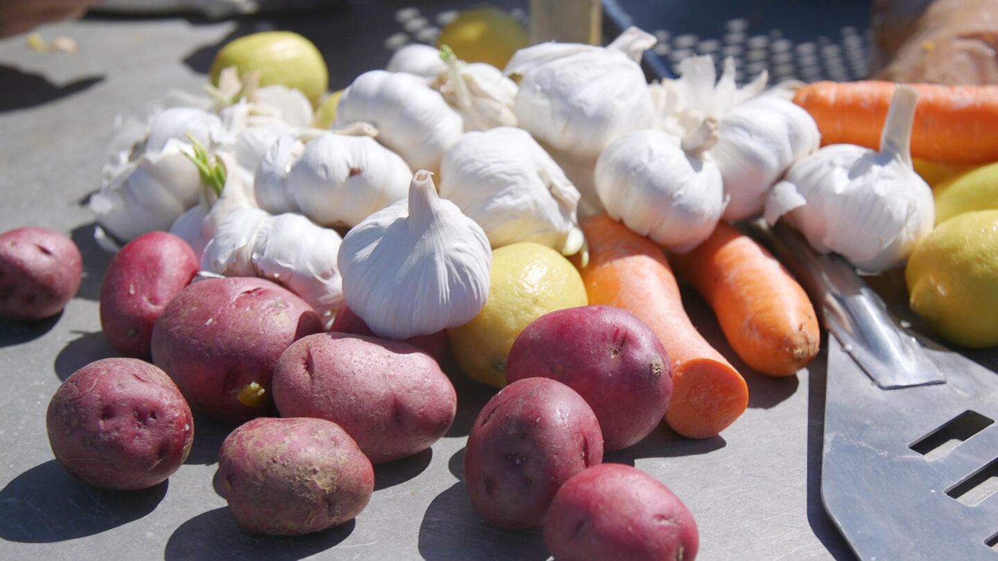
[[[807,368],[807,524],[835,561],[853,561],[855,556],[852,550],[821,503],[821,451],[824,441],[827,363],[827,347],[822,347]]]

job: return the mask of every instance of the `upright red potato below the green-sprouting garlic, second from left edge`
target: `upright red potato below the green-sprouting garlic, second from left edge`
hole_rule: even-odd
[[[148,357],[156,318],[197,274],[198,258],[178,236],[150,232],[126,244],[101,285],[101,328],[111,346]]]

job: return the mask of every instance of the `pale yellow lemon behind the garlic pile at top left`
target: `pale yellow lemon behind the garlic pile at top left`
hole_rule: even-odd
[[[301,90],[312,105],[329,87],[329,70],[311,41],[290,31],[264,31],[228,43],[212,63],[212,83],[235,66],[240,76],[259,72],[259,85],[283,84]]]

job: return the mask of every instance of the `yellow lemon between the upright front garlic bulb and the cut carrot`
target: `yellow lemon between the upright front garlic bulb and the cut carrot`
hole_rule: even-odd
[[[492,252],[489,297],[474,319],[447,329],[454,359],[471,379],[506,385],[506,358],[531,321],[556,309],[586,305],[586,286],[561,254],[529,242]]]

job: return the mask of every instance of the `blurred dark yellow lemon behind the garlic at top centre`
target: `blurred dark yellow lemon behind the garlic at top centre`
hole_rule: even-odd
[[[457,58],[486,62],[502,70],[513,53],[529,44],[527,30],[508,13],[492,6],[461,12],[440,32],[437,46],[447,45]]]

